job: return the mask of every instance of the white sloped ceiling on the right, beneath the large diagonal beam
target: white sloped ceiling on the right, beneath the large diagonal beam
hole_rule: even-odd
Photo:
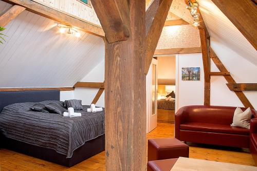
[[[257,66],[257,51],[222,11],[211,0],[198,0],[198,3],[210,36]]]

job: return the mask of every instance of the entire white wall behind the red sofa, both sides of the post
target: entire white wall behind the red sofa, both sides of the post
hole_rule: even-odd
[[[257,66],[237,54],[222,42],[211,39],[211,47],[237,83],[257,83]],[[200,81],[182,81],[182,67],[200,67]],[[204,104],[204,68],[201,53],[177,55],[177,107]],[[211,71],[219,71],[211,60]],[[223,76],[211,76],[211,105],[244,107],[234,91],[230,91]],[[244,91],[257,108],[257,92]]]

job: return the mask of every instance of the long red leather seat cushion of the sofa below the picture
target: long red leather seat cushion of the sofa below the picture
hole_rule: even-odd
[[[250,135],[250,130],[225,124],[188,122],[180,125],[180,129],[204,132],[216,132],[235,135]]]

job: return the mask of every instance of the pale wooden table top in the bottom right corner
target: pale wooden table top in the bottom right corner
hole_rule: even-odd
[[[179,157],[171,171],[257,171],[257,167]]]

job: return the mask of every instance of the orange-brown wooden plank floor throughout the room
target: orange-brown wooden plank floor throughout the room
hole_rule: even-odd
[[[168,138],[174,135],[174,124],[158,123],[157,128],[147,135],[147,139]],[[211,145],[190,144],[190,158],[221,161],[228,163],[254,165],[249,151],[240,148],[228,148]],[[7,149],[0,149],[0,170],[105,170],[104,151],[73,167],[67,168],[44,160],[16,153]]]

